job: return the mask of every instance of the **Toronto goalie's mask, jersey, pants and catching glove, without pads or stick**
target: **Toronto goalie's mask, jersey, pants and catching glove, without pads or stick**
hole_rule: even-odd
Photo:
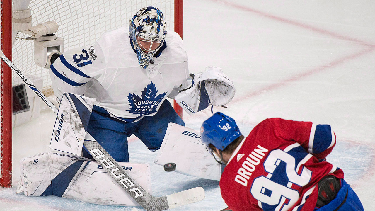
[[[64,92],[96,99],[87,131],[116,161],[130,161],[127,137],[132,134],[154,151],[169,123],[185,126],[167,97],[192,114],[234,96],[234,85],[220,68],[209,66],[190,77],[182,39],[165,24],[159,9],[142,8],[129,27],[66,51],[51,65],[59,99]],[[83,157],[92,158],[87,151]]]

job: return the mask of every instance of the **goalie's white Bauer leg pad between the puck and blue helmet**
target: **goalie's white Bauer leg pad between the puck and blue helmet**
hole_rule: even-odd
[[[175,163],[175,172],[203,179],[220,180],[222,165],[217,163],[201,142],[199,131],[169,123],[154,162]]]

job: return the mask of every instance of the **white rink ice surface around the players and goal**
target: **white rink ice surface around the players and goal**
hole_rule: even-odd
[[[375,202],[374,8],[371,0],[184,1],[190,72],[220,66],[237,88],[229,107],[214,112],[232,116],[245,135],[272,117],[332,125],[337,145],[328,161],[344,170],[365,210]],[[198,130],[210,115],[184,113],[184,121]],[[15,194],[19,160],[48,151],[53,123],[54,114],[43,112],[14,128],[13,188],[0,188],[1,211],[143,210]],[[130,161],[151,164],[153,195],[205,189],[204,200],[174,210],[226,207],[217,181],[165,172],[153,163],[156,152],[135,137],[129,151]]]

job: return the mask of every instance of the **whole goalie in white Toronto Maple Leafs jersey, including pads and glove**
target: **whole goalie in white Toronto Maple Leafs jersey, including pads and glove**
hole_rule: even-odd
[[[92,151],[84,147],[86,132],[134,178],[128,186],[151,193],[149,164],[129,162],[127,137],[134,134],[149,150],[160,149],[163,142],[163,153],[155,160],[162,164],[171,144],[192,143],[180,139],[186,132],[169,130],[180,142],[165,137],[171,124],[187,130],[167,96],[192,115],[209,104],[226,105],[235,94],[221,68],[208,66],[195,76],[189,74],[181,38],[167,33],[163,14],[154,7],[142,8],[130,19],[129,34],[122,27],[104,33],[93,45],[66,51],[51,65],[50,75],[60,101],[50,148],[58,151],[21,160],[18,190],[27,196],[55,195],[103,205],[138,206],[138,201],[115,184],[113,176],[120,178],[122,170],[107,173],[105,167],[113,163],[92,160]],[[205,150],[198,139],[189,152]],[[190,173],[191,164],[178,164],[176,171],[201,178],[215,175],[218,180],[221,166],[208,166],[202,163]],[[135,198],[141,195],[134,193]]]

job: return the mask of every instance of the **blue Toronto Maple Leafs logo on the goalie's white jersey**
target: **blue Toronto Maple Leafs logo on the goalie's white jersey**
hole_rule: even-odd
[[[128,101],[130,102],[130,110],[126,110],[132,114],[137,115],[150,115],[156,112],[157,106],[160,104],[166,92],[157,94],[156,86],[152,82],[141,91],[142,95],[139,97],[135,93],[127,96]]]

